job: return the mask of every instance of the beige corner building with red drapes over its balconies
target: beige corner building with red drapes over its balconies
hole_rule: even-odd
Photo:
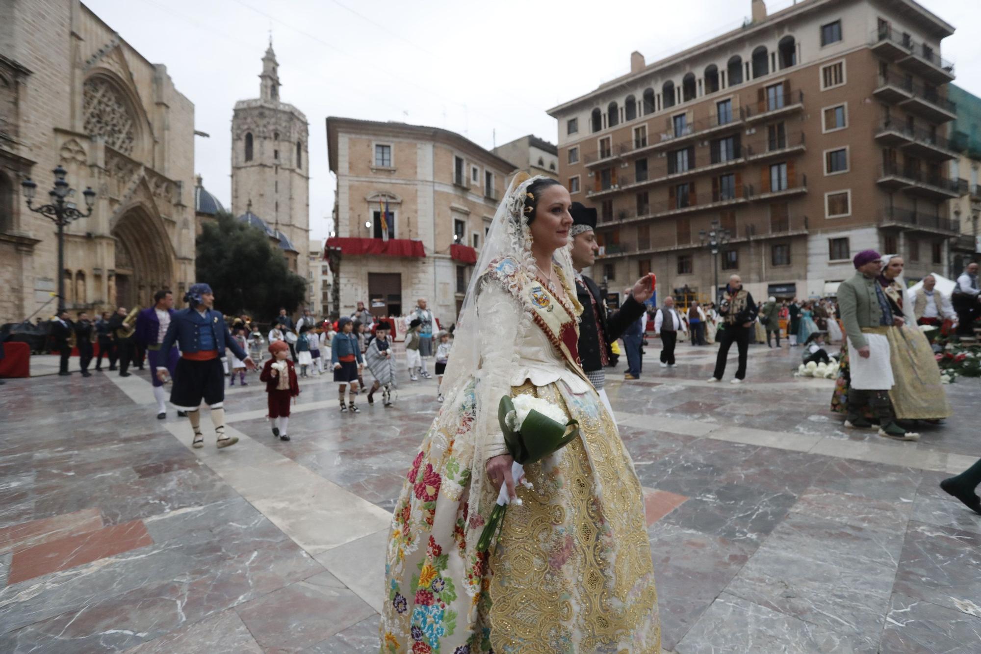
[[[455,322],[514,164],[464,136],[404,123],[332,117],[327,139],[337,180],[332,306],[348,315],[364,301],[397,316],[426,298],[442,324]]]

